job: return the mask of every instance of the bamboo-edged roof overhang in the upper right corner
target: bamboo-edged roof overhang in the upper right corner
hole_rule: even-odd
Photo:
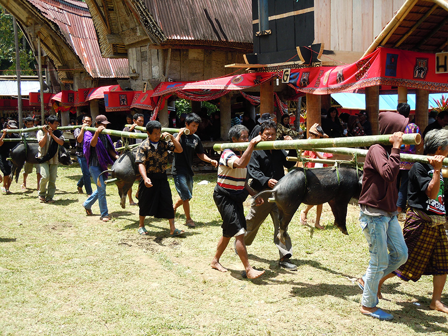
[[[448,46],[448,0],[407,0],[364,56],[377,47],[441,52]]]

